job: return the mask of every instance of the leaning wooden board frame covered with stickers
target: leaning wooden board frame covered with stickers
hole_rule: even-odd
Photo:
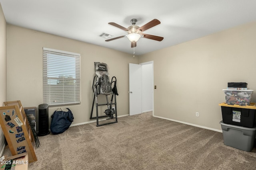
[[[4,102],[4,105],[7,106],[0,107],[0,125],[12,155],[27,152],[28,162],[36,161],[34,136],[21,102]]]

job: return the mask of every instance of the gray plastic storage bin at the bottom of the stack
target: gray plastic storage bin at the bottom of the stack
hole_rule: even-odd
[[[224,145],[250,152],[254,147],[256,127],[230,125],[220,121]]]

